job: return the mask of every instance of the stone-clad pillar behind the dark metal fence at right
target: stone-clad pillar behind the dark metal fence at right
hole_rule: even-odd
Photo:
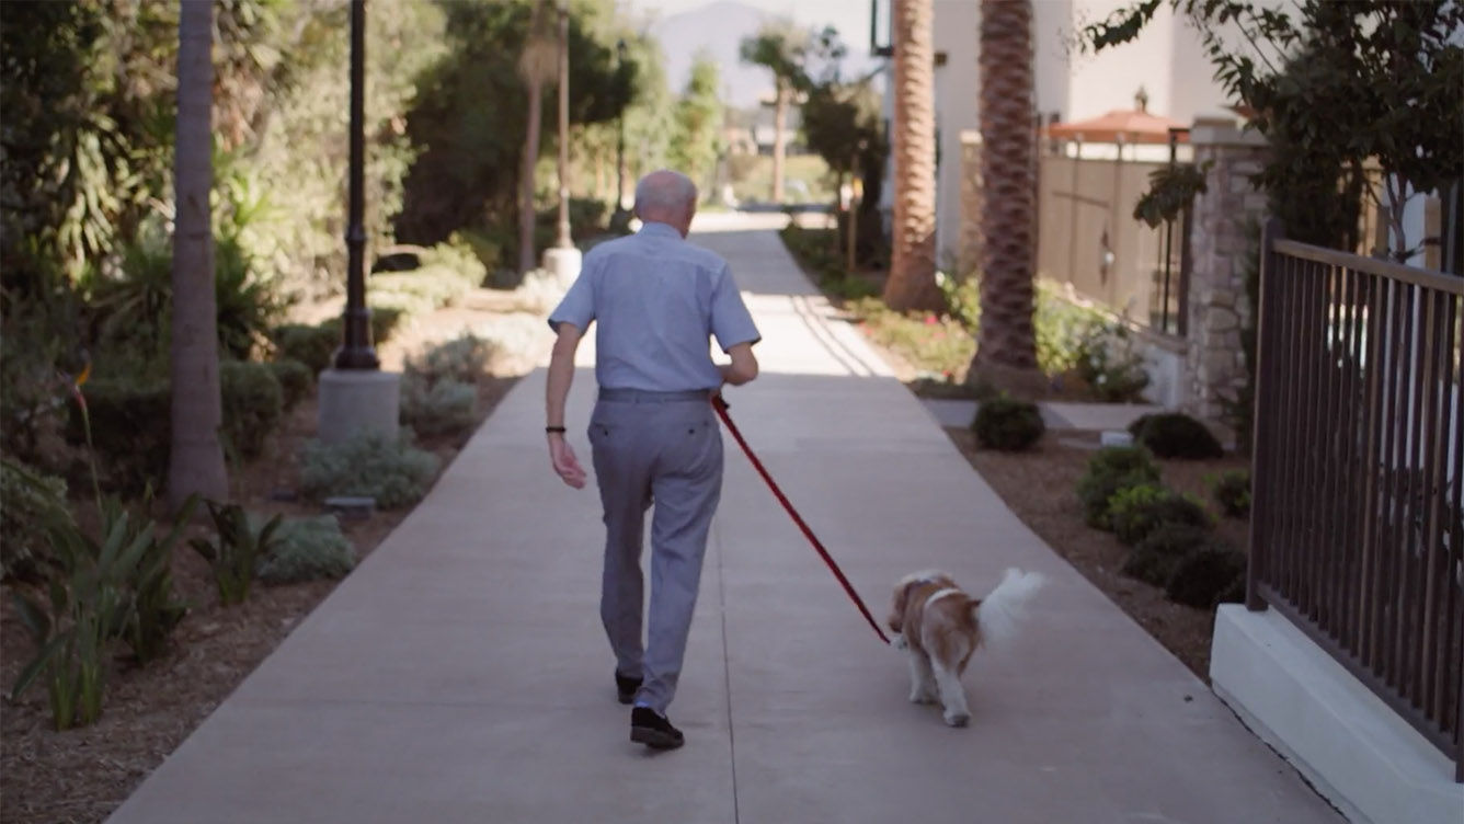
[[[1195,199],[1187,293],[1187,392],[1183,411],[1220,424],[1225,402],[1246,385],[1240,328],[1250,322],[1244,256],[1258,253],[1246,225],[1265,221],[1266,198],[1250,184],[1265,164],[1266,143],[1228,119],[1200,119],[1190,130],[1195,165],[1211,164],[1208,190]]]

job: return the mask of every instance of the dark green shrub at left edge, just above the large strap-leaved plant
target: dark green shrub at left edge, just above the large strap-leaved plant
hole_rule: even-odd
[[[38,581],[50,565],[50,530],[76,523],[66,482],[0,458],[0,581]]]

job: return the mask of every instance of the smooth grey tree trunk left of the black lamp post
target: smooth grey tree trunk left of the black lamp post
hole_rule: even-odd
[[[214,230],[208,195],[214,186],[212,105],[214,4],[183,3],[179,16],[179,108],[173,233],[173,430],[168,502],[189,495],[228,498],[218,442],[218,321],[214,299]]]

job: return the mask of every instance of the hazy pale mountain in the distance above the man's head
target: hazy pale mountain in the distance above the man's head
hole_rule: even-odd
[[[738,54],[742,38],[757,34],[769,16],[736,0],[720,0],[651,23],[650,32],[666,54],[666,82],[672,94],[687,88],[691,61],[704,48],[717,63],[723,102],[747,108],[757,105],[760,97],[772,95],[773,76],[766,69],[742,64]]]

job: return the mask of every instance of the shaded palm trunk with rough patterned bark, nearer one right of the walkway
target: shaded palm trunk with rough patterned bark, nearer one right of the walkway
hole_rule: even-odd
[[[972,375],[1035,388],[1031,0],[981,0],[981,331]]]

